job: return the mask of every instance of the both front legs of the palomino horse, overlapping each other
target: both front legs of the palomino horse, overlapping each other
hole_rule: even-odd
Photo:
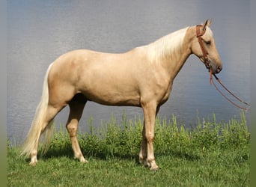
[[[139,159],[142,164],[146,164],[150,167],[150,170],[156,171],[159,167],[156,165],[155,156],[153,153],[153,140],[154,140],[154,127],[155,119],[158,108],[156,104],[147,103],[142,106],[144,111],[144,128],[142,132],[142,144],[141,151],[139,153]],[[147,153],[147,159],[145,160]]]

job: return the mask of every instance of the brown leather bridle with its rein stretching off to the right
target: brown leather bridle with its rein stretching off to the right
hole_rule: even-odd
[[[212,70],[210,69],[211,65],[210,65],[210,60],[208,58],[209,53],[207,52],[207,50],[204,48],[204,43],[202,41],[201,36],[203,36],[205,34],[206,28],[203,28],[203,31],[200,31],[202,25],[197,25],[196,26],[196,37],[198,38],[198,43],[201,47],[201,50],[203,52],[203,60],[204,60],[204,65],[207,68],[207,70],[209,70],[210,73],[210,85],[214,85],[214,87],[216,88],[217,91],[219,91],[219,93],[221,93],[222,96],[225,97],[225,99],[227,99],[229,102],[231,102],[231,104],[237,106],[237,108],[241,108],[245,111],[249,111],[250,108],[246,108],[240,105],[237,105],[237,103],[235,103],[234,101],[232,101],[231,99],[228,98],[228,96],[225,96],[224,93],[222,93],[222,91],[219,90],[219,88],[216,86],[216,84],[213,82],[213,76],[215,77],[215,79],[219,82],[220,85],[222,85],[222,87],[228,91],[228,93],[231,94],[231,96],[234,96],[235,99],[237,99],[238,101],[242,102],[243,104],[250,106],[248,102],[243,101],[242,99],[240,99],[238,96],[236,96],[234,93],[232,93],[223,83],[222,81],[216,76],[215,73],[212,72]]]

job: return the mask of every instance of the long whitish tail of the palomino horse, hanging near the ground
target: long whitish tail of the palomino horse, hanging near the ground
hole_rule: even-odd
[[[25,138],[25,142],[22,146],[21,155],[31,156],[31,153],[37,148],[41,132],[43,130],[43,123],[45,123],[46,111],[49,102],[49,90],[48,90],[48,74],[51,69],[52,64],[49,65],[48,70],[46,71],[46,75],[43,81],[43,93],[41,96],[40,103],[37,105],[36,112],[34,114],[34,120],[31,123],[31,127],[29,129],[28,135]],[[46,137],[47,143],[49,143],[50,135],[52,135],[51,127],[53,120],[46,126],[44,130],[44,134]]]

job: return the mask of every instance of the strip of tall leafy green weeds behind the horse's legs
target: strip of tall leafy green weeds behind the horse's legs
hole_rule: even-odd
[[[111,120],[93,126],[90,119],[90,131],[79,132],[78,139],[85,156],[108,158],[114,156],[133,157],[138,155],[141,146],[143,120],[135,115],[127,119],[123,114],[120,123],[112,115]],[[172,120],[156,117],[155,124],[155,154],[174,155],[196,158],[201,153],[213,149],[237,149],[249,146],[250,134],[246,117],[241,113],[240,120],[231,119],[228,123],[216,123],[213,120],[198,118],[198,124],[192,129],[186,129],[183,124],[177,124],[177,118]],[[64,129],[55,130],[54,138],[49,148],[49,155],[65,154],[72,156],[73,152],[69,135]]]

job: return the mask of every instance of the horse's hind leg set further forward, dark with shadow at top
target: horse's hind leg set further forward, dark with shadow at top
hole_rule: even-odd
[[[77,126],[80,118],[82,117],[82,111],[85,107],[86,99],[81,93],[76,94],[70,101],[70,115],[67,120],[67,131],[70,134],[70,141],[72,144],[75,159],[79,159],[80,162],[88,162],[82,155],[82,151],[79,147],[79,143],[76,138]]]

